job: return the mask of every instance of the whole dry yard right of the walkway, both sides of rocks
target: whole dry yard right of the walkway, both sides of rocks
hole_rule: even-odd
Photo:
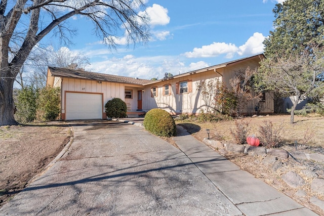
[[[295,141],[297,141],[297,150],[305,153],[320,153],[324,154],[324,117],[312,116],[302,117],[295,116],[295,123],[291,124],[290,115],[271,115],[260,117],[247,117],[243,119],[249,122],[251,126],[251,135],[258,137],[258,128],[260,125],[264,125],[263,121],[271,121],[274,127],[282,125],[281,136],[284,140],[284,145],[279,149],[285,149],[288,152],[296,150]],[[199,123],[196,121],[178,120],[177,124],[182,125],[191,133],[197,140],[203,141],[208,137],[206,129],[210,129],[210,138],[221,141],[222,143],[233,143],[231,129],[235,129],[235,121],[221,121],[214,123]],[[247,145],[247,144],[246,144]],[[220,153],[220,149],[215,149]],[[300,204],[312,209],[319,215],[324,215],[324,211],[318,206],[312,204],[309,200],[313,196],[317,196],[324,201],[324,196],[316,194],[312,191],[310,185],[312,178],[304,177],[306,184],[302,187],[291,188],[282,179],[282,175],[288,171],[294,171],[297,174],[301,174],[303,169],[316,172],[317,178],[324,178],[324,163],[310,160],[304,160],[297,162],[289,157],[288,159],[280,159],[282,166],[274,170],[270,164],[263,164],[264,156],[251,156],[248,154],[223,154],[227,159],[234,162],[242,170],[246,170],[254,175],[256,178],[261,179],[268,185],[274,187],[278,191],[288,195]],[[302,174],[301,174],[302,175]],[[296,195],[297,191],[303,190],[306,192],[306,196]]]

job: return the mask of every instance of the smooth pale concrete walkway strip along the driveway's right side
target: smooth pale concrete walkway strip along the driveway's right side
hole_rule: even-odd
[[[141,119],[122,119],[138,123]],[[278,192],[247,171],[241,170],[204,143],[177,126],[173,140],[201,172],[245,215],[317,215],[313,211]]]

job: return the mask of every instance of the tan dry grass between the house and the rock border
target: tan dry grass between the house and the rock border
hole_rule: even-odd
[[[250,121],[250,135],[258,137],[259,127],[264,125],[263,121],[266,120],[271,121],[274,126],[282,124],[281,137],[285,144],[294,144],[297,141],[299,145],[324,147],[324,117],[322,116],[295,116],[295,123],[293,124],[290,123],[290,115],[247,117],[246,120]],[[207,123],[189,122],[187,120],[177,121],[177,124],[180,125],[189,123],[190,128],[186,128],[189,133],[195,136],[207,137],[206,129],[208,128],[210,135],[221,137],[224,141],[234,141],[230,131],[235,128],[235,120]]]

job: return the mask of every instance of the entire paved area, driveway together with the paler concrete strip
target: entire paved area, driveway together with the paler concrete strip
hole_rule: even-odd
[[[181,127],[179,150],[126,120],[71,122],[71,146],[0,215],[317,215]]]

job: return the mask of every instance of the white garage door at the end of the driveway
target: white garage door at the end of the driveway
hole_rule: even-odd
[[[66,93],[65,119],[101,119],[102,95],[87,93]]]

